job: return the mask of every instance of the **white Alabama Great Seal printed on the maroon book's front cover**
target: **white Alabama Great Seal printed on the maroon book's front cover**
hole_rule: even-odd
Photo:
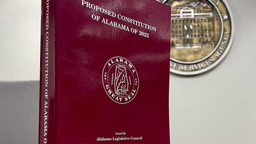
[[[103,68],[102,84],[111,100],[118,104],[127,104],[137,95],[139,77],[129,60],[114,57],[109,59]]]

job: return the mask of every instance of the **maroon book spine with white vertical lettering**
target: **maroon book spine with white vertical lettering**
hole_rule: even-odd
[[[55,143],[55,0],[41,1],[41,66],[38,144]]]

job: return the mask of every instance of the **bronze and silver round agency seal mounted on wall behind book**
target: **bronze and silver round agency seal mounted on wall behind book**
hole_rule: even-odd
[[[197,75],[218,65],[233,43],[233,17],[226,1],[160,1],[172,7],[170,71]]]

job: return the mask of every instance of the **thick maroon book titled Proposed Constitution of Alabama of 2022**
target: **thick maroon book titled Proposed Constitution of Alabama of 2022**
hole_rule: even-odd
[[[39,144],[169,144],[171,8],[42,0]]]

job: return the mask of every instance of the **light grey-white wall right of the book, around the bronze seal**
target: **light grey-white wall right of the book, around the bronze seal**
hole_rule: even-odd
[[[256,1],[227,0],[235,40],[203,75],[170,78],[172,144],[256,144]]]

